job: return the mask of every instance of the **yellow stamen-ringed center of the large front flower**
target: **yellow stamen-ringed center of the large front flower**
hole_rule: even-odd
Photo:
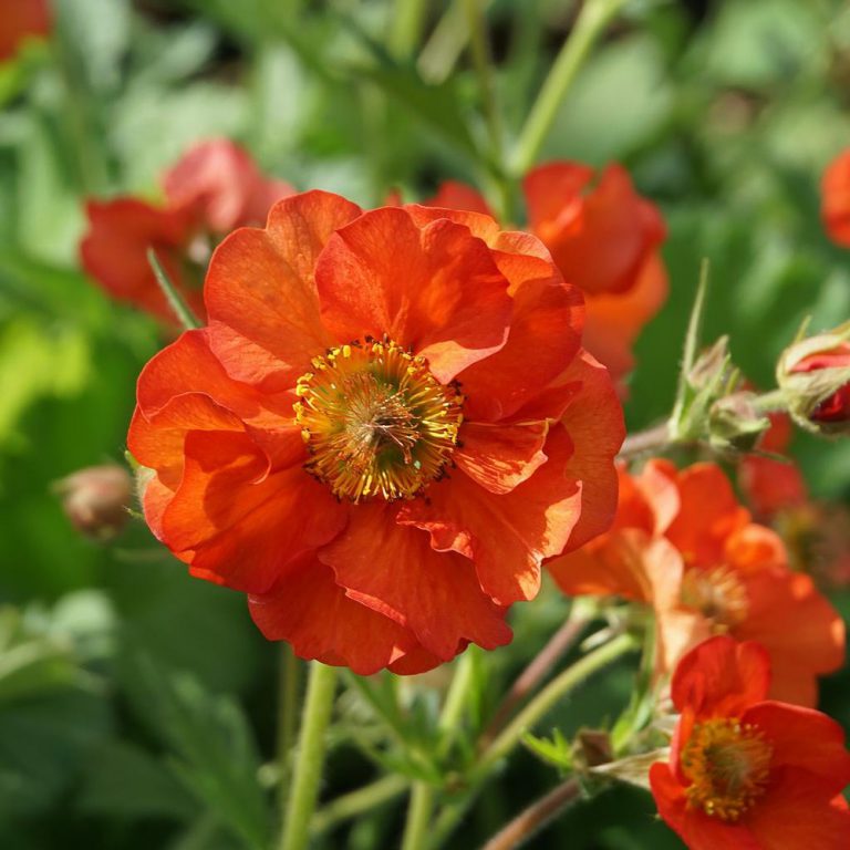
[[[443,475],[463,422],[457,384],[386,339],[340,345],[312,365],[298,379],[296,419],[305,469],[335,496],[411,499]]]

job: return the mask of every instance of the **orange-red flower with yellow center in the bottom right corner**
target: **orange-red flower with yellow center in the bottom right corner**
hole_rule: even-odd
[[[844,733],[809,708],[767,702],[770,662],[753,641],[713,638],[673,676],[681,717],[670,763],[650,768],[659,813],[691,850],[843,850]]]

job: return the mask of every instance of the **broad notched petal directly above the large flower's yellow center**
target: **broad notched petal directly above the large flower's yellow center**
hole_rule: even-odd
[[[315,280],[339,339],[387,334],[443,383],[507,339],[507,281],[487,246],[448,219],[419,228],[404,208],[366,212],[329,240]]]

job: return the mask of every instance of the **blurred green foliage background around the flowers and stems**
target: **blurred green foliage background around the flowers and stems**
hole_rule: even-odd
[[[122,462],[135,379],[166,341],[81,271],[89,196],[155,198],[199,138],[242,143],[299,189],[374,206],[400,187],[480,179],[479,93],[449,3],[405,21],[388,0],[54,0],[48,43],[0,65],[0,844],[8,850],[263,847],[273,822],[279,649],[241,594],[189,580],[141,522],[83,539],[51,484]],[[569,0],[487,4],[516,136],[574,20]],[[424,50],[423,50],[424,45]],[[850,8],[839,0],[634,0],[562,103],[542,159],[629,166],[663,209],[671,296],[638,345],[631,428],[668,410],[698,263],[707,339],[732,336],[761,386],[804,315],[850,315],[850,255],[819,219],[825,165],[850,144]],[[850,444],[798,435],[818,497],[848,500]],[[850,601],[837,598],[844,612]],[[484,660],[485,702],[563,618],[551,591]],[[560,706],[573,730],[625,704],[633,663]],[[432,682],[443,681],[434,674]],[[402,698],[433,722],[435,692]],[[367,706],[343,697],[323,795],[377,776]],[[850,676],[823,686],[850,725]],[[365,718],[365,719],[364,719]],[[432,721],[427,721],[432,718]],[[364,740],[366,744],[364,744]],[[210,742],[214,745],[210,746]],[[263,765],[267,765],[263,767]],[[556,773],[529,754],[449,844],[481,843]],[[323,839],[395,847],[400,802]],[[576,808],[532,848],[675,848],[638,791]]]

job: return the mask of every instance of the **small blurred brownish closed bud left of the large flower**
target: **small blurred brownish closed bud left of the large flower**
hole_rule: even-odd
[[[90,466],[54,485],[74,528],[97,540],[114,537],[128,519],[132,483],[117,464]]]

